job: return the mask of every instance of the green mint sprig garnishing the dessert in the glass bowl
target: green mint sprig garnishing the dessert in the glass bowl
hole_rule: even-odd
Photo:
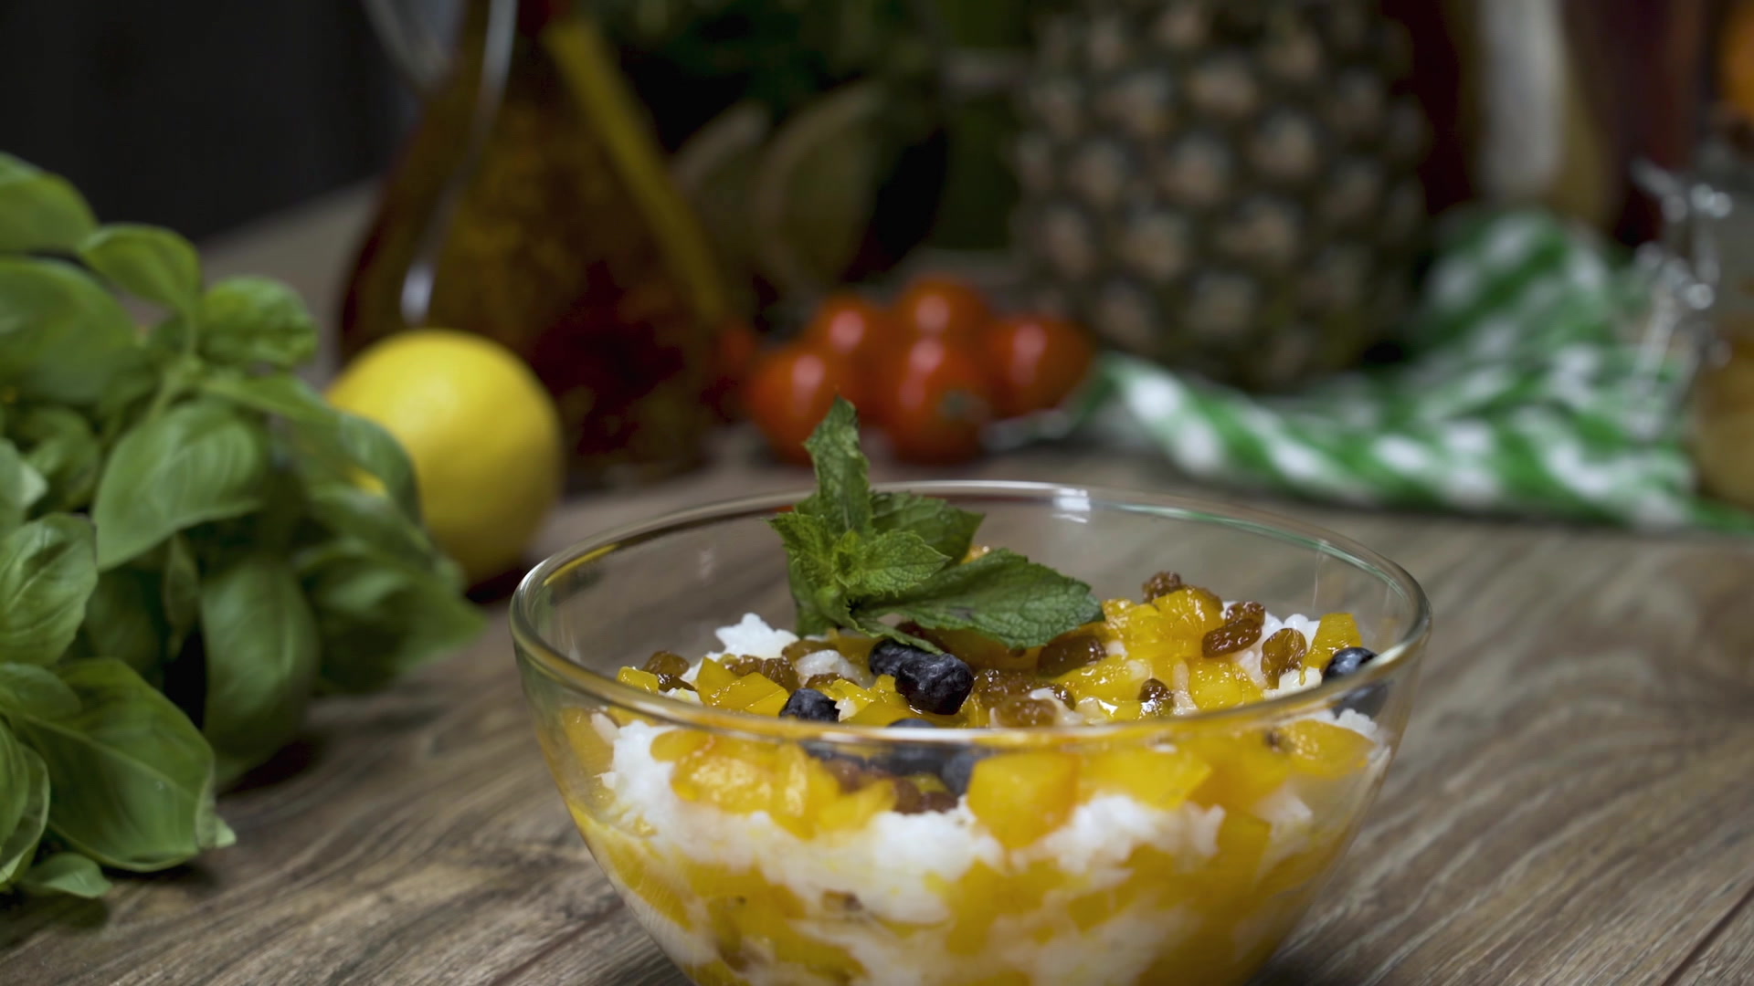
[[[800,633],[838,626],[931,647],[884,621],[898,618],[1037,647],[1102,616],[1087,584],[1014,551],[963,561],[980,514],[935,497],[873,493],[858,412],[845,400],[803,446],[816,493],[770,521],[786,544]]]

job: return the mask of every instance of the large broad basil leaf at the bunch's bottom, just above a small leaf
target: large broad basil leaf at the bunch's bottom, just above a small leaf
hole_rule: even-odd
[[[12,718],[49,770],[54,835],[135,872],[163,870],[235,839],[214,814],[212,749],[188,716],[121,661],[72,661],[56,672],[81,711]]]

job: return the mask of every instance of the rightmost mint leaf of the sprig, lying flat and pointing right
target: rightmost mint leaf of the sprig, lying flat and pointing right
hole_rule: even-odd
[[[898,614],[935,630],[975,630],[1007,647],[1037,647],[1098,619],[1102,605],[1087,584],[998,549],[873,600],[861,612]]]

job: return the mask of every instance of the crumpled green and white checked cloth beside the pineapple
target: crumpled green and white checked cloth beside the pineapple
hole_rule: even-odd
[[[1754,532],[1694,493],[1684,367],[1626,339],[1647,297],[1633,267],[1547,214],[1472,218],[1445,235],[1403,363],[1261,398],[1109,354],[1061,425],[1145,439],[1228,486]]]

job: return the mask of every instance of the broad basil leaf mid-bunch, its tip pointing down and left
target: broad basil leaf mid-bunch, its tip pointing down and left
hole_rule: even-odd
[[[181,528],[261,505],[268,433],[221,404],[172,407],[121,437],[98,482],[98,567],[112,568]]]

